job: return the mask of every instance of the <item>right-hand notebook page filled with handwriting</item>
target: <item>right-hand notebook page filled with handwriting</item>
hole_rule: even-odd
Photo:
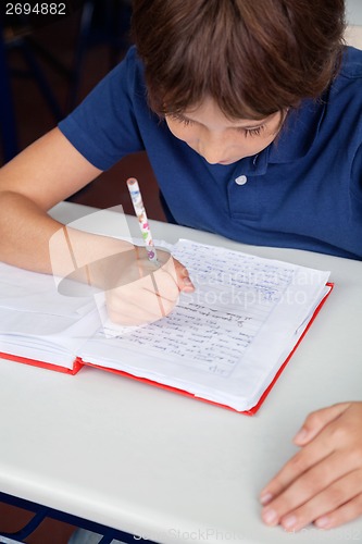
[[[329,273],[189,240],[172,252],[188,268],[196,292],[182,294],[173,312],[150,325],[103,326],[80,356],[251,408],[321,300]]]

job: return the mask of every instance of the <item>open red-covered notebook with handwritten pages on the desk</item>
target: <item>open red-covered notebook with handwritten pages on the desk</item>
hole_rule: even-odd
[[[178,240],[163,243],[196,292],[152,324],[120,327],[103,295],[0,263],[2,356],[75,374],[84,364],[253,413],[332,289],[328,272]]]

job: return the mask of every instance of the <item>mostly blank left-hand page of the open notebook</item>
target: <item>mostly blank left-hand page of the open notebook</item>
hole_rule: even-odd
[[[92,295],[68,297],[48,274],[0,263],[0,351],[73,368],[101,325]]]

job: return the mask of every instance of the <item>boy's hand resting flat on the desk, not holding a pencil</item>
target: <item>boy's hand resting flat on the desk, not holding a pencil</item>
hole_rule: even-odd
[[[330,529],[362,515],[362,403],[344,403],[307,418],[301,446],[264,487],[262,518],[298,531]]]

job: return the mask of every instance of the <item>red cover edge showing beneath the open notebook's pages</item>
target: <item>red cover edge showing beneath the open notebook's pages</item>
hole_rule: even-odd
[[[211,404],[211,405],[220,406],[222,408],[227,408],[228,410],[236,411],[238,413],[244,413],[244,415],[247,415],[247,416],[253,416],[254,413],[257,413],[257,411],[260,409],[261,405],[264,403],[265,398],[267,397],[267,395],[270,394],[271,390],[275,385],[277,379],[282,374],[283,370],[285,369],[285,367],[287,366],[287,363],[291,359],[291,357],[292,357],[294,353],[296,351],[297,347],[299,346],[299,344],[301,343],[301,341],[305,336],[307,332],[309,331],[310,326],[312,325],[313,321],[315,320],[316,316],[321,311],[324,302],[326,301],[326,299],[330,295],[332,289],[334,287],[334,284],[328,282],[327,286],[329,287],[328,292],[325,294],[325,296],[323,297],[323,299],[321,300],[321,302],[319,304],[319,306],[315,308],[315,310],[314,310],[314,312],[313,312],[310,321],[308,322],[304,331],[302,332],[301,336],[299,337],[298,342],[296,343],[296,345],[291,349],[291,351],[288,355],[288,357],[286,358],[286,360],[279,367],[279,369],[276,372],[273,381],[270,383],[270,385],[266,387],[266,390],[264,391],[264,393],[261,395],[261,397],[258,400],[258,403],[255,404],[255,406],[253,406],[252,408],[250,408],[249,410],[246,410],[246,411],[238,411],[235,408],[232,408],[232,407],[229,407],[227,405],[219,404],[219,403],[215,403],[213,400],[208,400],[208,399],[204,399],[202,397],[195,396],[192,393],[188,393],[187,391],[179,390],[177,387],[172,387],[170,385],[164,385],[162,383],[154,382],[154,381],[148,380],[146,378],[139,378],[139,376],[136,376],[134,374],[129,374],[127,372],[124,372],[122,370],[115,370],[115,369],[102,367],[102,366],[99,366],[99,364],[96,364],[96,363],[92,363],[92,362],[89,362],[89,361],[84,361],[84,360],[82,360],[78,357],[75,359],[72,369],[64,368],[64,367],[61,367],[59,364],[50,364],[48,362],[37,361],[37,360],[34,360],[34,359],[27,359],[25,357],[18,357],[18,356],[15,356],[15,355],[3,354],[1,351],[0,351],[0,357],[3,357],[4,359],[10,359],[10,360],[13,360],[13,361],[16,361],[16,362],[22,362],[22,363],[25,363],[25,364],[32,364],[33,367],[41,367],[41,368],[45,368],[45,369],[48,369],[48,370],[54,370],[57,372],[63,372],[63,373],[66,373],[66,374],[72,374],[72,375],[76,374],[84,366],[93,367],[93,368],[97,368],[97,369],[100,369],[100,370],[105,370],[107,372],[112,372],[114,374],[118,374],[118,375],[122,375],[122,376],[130,378],[133,380],[137,380],[138,382],[142,382],[142,383],[146,383],[146,384],[149,384],[149,385],[153,385],[153,386],[155,385],[157,387],[161,387],[163,390],[171,391],[173,393],[178,393],[178,394],[185,395],[187,397],[196,398],[197,400],[202,400],[203,403],[208,403],[208,404]]]

